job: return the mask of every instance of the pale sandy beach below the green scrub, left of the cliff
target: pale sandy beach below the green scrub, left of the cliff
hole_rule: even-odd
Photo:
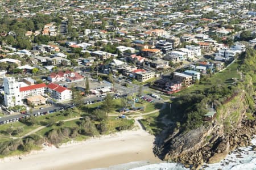
[[[111,165],[146,161],[161,162],[152,152],[154,136],[144,130],[92,138],[82,142],[69,142],[60,148],[44,148],[19,158],[5,158],[0,169],[92,169]]]

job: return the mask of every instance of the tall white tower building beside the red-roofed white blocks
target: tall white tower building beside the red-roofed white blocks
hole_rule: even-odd
[[[5,89],[5,106],[14,107],[15,105],[22,105],[22,96],[19,92],[20,84],[15,81],[15,78],[3,78],[3,86]]]

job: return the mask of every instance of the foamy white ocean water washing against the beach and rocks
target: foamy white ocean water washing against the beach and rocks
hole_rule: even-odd
[[[256,136],[251,141],[256,145]],[[241,147],[233,151],[232,154],[227,155],[220,163],[204,164],[201,169],[205,170],[256,170],[256,151],[251,150],[249,147]],[[240,158],[238,158],[239,156]],[[187,170],[182,164],[177,163],[159,163],[144,165],[137,168],[130,168],[131,170]]]

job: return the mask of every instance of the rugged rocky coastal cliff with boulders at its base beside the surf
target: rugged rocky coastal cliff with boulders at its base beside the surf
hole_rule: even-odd
[[[162,141],[155,151],[163,160],[198,169],[203,163],[220,162],[237,147],[250,145],[256,121],[246,116],[250,109],[248,97],[241,90],[217,108],[217,116],[212,122],[204,122],[198,128],[181,131],[170,127],[161,134]]]

